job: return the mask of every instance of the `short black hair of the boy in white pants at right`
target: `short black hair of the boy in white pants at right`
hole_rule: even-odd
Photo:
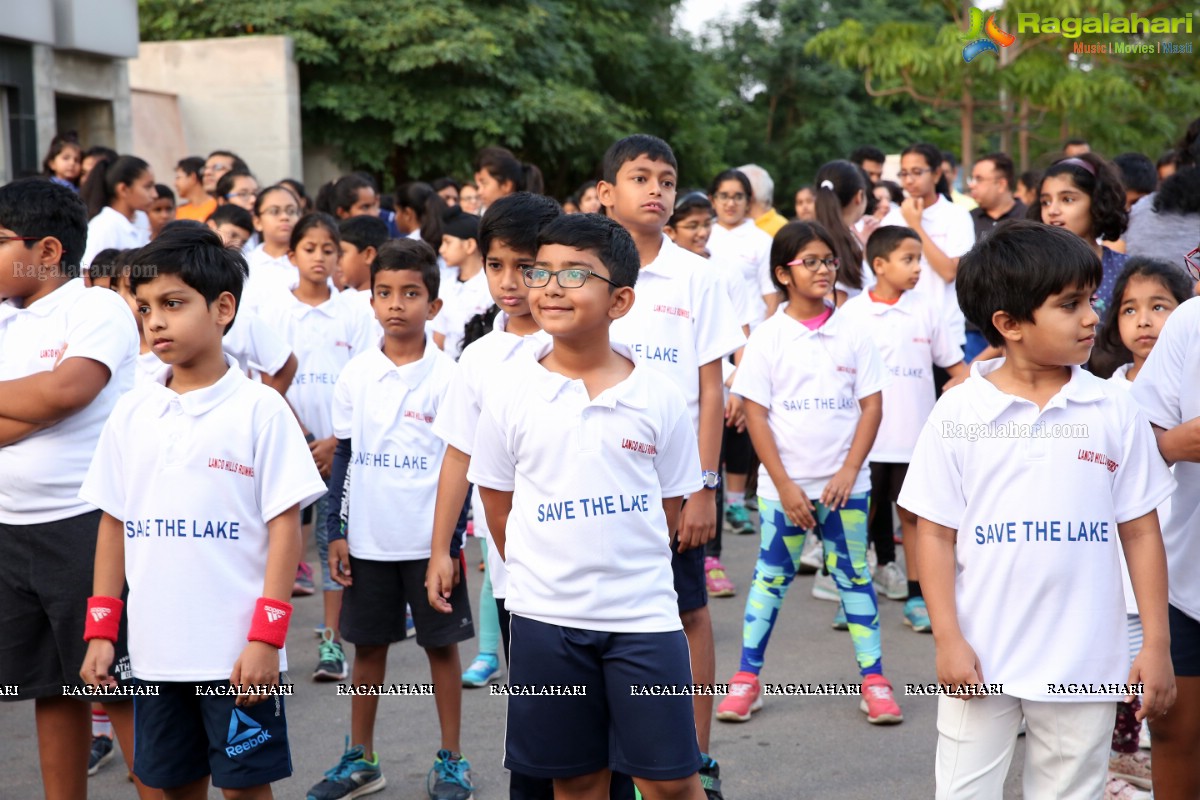
[[[1013,219],[996,225],[962,257],[955,289],[962,314],[988,344],[1000,347],[1004,337],[991,321],[997,311],[1031,323],[1033,312],[1050,295],[1067,287],[1094,289],[1103,276],[1100,259],[1075,234],[1032,219]]]

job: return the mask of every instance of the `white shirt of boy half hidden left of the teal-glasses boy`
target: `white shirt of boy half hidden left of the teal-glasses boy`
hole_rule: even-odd
[[[475,428],[482,413],[484,401],[492,391],[502,391],[510,380],[515,361],[530,359],[532,354],[550,342],[550,335],[544,331],[528,336],[508,332],[509,315],[503,311],[496,315],[492,332],[472,342],[458,359],[446,396],[433,420],[433,433],[448,445],[467,453],[475,447]],[[472,509],[474,511],[475,535],[487,539],[487,569],[492,578],[492,596],[503,600],[508,596],[508,569],[504,559],[496,551],[492,530],[487,527],[487,516],[479,500],[479,488],[472,489]]]

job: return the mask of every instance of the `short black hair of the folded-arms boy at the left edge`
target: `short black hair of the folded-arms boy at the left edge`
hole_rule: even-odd
[[[0,225],[18,236],[53,236],[62,245],[59,267],[79,277],[79,260],[88,242],[88,206],[73,190],[46,178],[25,178],[0,186]],[[36,242],[24,242],[32,249]]]

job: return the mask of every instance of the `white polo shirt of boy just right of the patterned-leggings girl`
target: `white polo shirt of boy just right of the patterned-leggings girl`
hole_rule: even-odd
[[[883,421],[868,461],[907,464],[920,422],[934,410],[934,365],[962,361],[962,348],[944,320],[920,295],[905,291],[894,303],[876,302],[868,291],[838,309],[844,323],[866,331],[892,383],[883,390]]]

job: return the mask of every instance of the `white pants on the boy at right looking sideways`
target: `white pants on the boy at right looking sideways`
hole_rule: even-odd
[[[1042,703],[1001,694],[937,700],[937,800],[1000,800],[1025,715],[1025,800],[1097,800],[1116,703]]]

